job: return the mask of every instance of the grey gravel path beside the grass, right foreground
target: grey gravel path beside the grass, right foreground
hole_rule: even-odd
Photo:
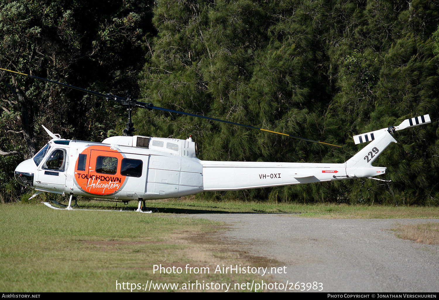
[[[281,261],[287,273],[271,274],[276,282],[321,282],[323,292],[439,292],[439,246],[399,239],[389,230],[397,224],[439,220],[328,220],[292,214],[189,217],[226,222],[231,229],[219,233],[222,238],[251,255]]]

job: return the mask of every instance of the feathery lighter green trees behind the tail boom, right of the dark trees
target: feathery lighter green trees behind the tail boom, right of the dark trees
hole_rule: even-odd
[[[156,3],[158,35],[148,40],[151,59],[142,75],[146,101],[345,144],[339,151],[187,116],[138,112],[144,134],[194,134],[202,159],[343,162],[360,149],[353,135],[436,114],[434,1]],[[392,146],[378,161],[389,166],[393,190],[404,202],[438,204],[436,175],[428,172],[437,155],[435,126],[410,129],[409,138],[400,134],[396,148],[403,153]],[[364,179],[219,195],[393,201],[388,186]]]

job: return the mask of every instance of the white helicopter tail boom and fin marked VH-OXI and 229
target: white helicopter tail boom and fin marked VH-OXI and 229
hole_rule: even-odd
[[[203,165],[203,189],[255,189],[385,174],[385,167],[374,167],[372,162],[396,140],[387,129],[377,131],[374,136],[372,143],[341,164],[200,161]]]

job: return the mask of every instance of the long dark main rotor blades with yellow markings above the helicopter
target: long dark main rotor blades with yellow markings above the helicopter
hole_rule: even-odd
[[[156,110],[159,110],[159,111],[168,111],[168,112],[173,112],[173,113],[176,113],[176,114],[185,114],[187,116],[193,116],[193,117],[197,117],[197,118],[203,118],[203,119],[212,120],[212,121],[219,121],[219,122],[223,122],[223,123],[227,123],[227,124],[232,124],[232,125],[237,125],[237,126],[242,126],[242,127],[246,127],[246,128],[257,129],[257,130],[266,131],[266,132],[272,132],[272,133],[280,134],[282,136],[288,136],[288,137],[290,137],[292,139],[301,139],[302,141],[306,141],[306,142],[318,143],[318,144],[323,144],[323,145],[328,145],[328,146],[334,146],[334,147],[342,148],[342,146],[337,146],[337,145],[333,145],[333,144],[329,144],[329,143],[314,141],[312,139],[304,139],[304,138],[301,138],[299,136],[291,136],[291,135],[286,134],[286,133],[281,133],[281,132],[277,132],[277,131],[271,131],[271,130],[268,130],[268,129],[253,127],[253,126],[249,126],[249,125],[243,125],[243,124],[234,123],[234,122],[230,122],[230,121],[224,121],[224,120],[216,119],[216,118],[205,117],[205,116],[202,116],[202,115],[199,115],[199,114],[191,114],[191,113],[186,113],[186,112],[183,112],[183,111],[174,111],[172,109],[167,109],[167,108],[163,108],[163,107],[157,107],[157,106],[154,106],[152,103],[144,103],[144,102],[138,102],[138,101],[131,102],[132,101],[131,99],[130,99],[130,101],[127,101],[126,98],[122,98],[122,97],[119,97],[119,96],[114,96],[114,95],[110,95],[110,94],[106,94],[105,95],[105,94],[97,93],[97,92],[94,92],[94,91],[90,91],[88,89],[82,89],[82,88],[79,88],[79,87],[76,87],[76,86],[71,86],[71,85],[68,85],[68,84],[65,84],[65,83],[61,83],[61,82],[57,82],[57,81],[53,81],[53,80],[49,80],[49,79],[45,79],[45,78],[41,78],[41,77],[36,77],[36,76],[29,75],[29,74],[20,73],[20,72],[17,72],[17,71],[11,71],[11,70],[7,70],[7,69],[4,69],[4,68],[0,68],[0,70],[11,72],[11,73],[15,73],[15,74],[19,74],[19,75],[24,75],[24,76],[27,76],[27,77],[30,77],[30,78],[34,78],[34,79],[38,79],[38,80],[42,80],[42,81],[46,81],[46,82],[50,82],[50,83],[55,83],[55,84],[58,84],[60,86],[65,86],[65,87],[68,87],[68,88],[71,88],[71,89],[77,89],[77,90],[82,91],[84,93],[90,93],[90,94],[93,94],[93,95],[96,95],[96,96],[101,96],[101,97],[104,97],[106,100],[112,100],[112,101],[115,101],[115,102],[117,102],[119,104],[123,104],[123,105],[133,104],[133,107],[147,108],[149,110],[156,109]]]

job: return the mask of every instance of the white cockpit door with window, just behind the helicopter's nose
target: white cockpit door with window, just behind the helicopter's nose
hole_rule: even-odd
[[[65,171],[68,168],[68,150],[54,148],[38,168],[35,187],[54,193],[65,192]]]

